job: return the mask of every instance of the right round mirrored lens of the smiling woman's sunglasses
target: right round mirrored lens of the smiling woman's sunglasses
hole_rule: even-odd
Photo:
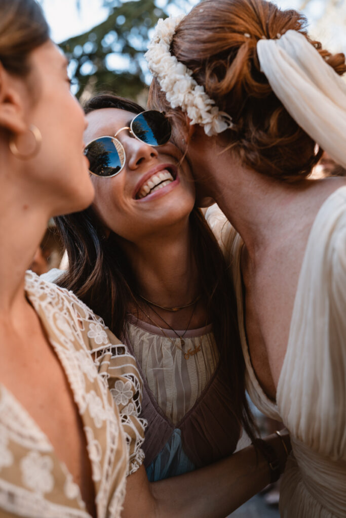
[[[156,110],[137,115],[131,124],[132,132],[149,146],[162,146],[172,135],[171,124],[163,113]]]

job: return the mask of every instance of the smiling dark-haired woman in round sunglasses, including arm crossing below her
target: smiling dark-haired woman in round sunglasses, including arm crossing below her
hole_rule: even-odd
[[[57,219],[69,266],[56,282],[102,316],[142,374],[147,473],[129,477],[124,515],[139,503],[154,515],[151,494],[173,498],[174,516],[225,516],[269,479],[253,447],[215,464],[234,452],[242,427],[253,436],[222,253],[163,114],[113,95],[92,98],[85,110],[95,199]],[[103,349],[94,351],[100,361]],[[269,443],[285,457],[280,437]]]

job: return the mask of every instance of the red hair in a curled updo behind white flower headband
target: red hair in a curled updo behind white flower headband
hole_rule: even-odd
[[[228,130],[229,147],[244,165],[291,182],[306,178],[323,151],[315,151],[315,142],[273,93],[260,70],[256,44],[261,37],[299,31],[342,75],[344,54],[323,49],[309,38],[306,26],[301,13],[264,0],[205,0],[179,23],[171,44],[171,53],[192,70],[218,108],[232,117],[235,127]],[[150,86],[149,105],[167,112],[177,124],[186,124],[185,115],[172,110],[157,80]]]

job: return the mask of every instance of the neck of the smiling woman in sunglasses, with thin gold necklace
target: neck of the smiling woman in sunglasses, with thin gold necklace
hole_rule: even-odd
[[[165,229],[162,235],[146,236],[140,243],[121,243],[136,279],[129,311],[140,320],[165,329],[197,329],[208,323],[205,301],[199,298],[200,279],[190,232],[187,220]]]

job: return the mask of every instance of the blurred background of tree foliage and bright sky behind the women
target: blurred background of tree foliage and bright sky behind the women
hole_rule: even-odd
[[[150,74],[144,53],[157,20],[186,13],[196,0],[40,0],[52,39],[70,59],[81,102],[111,90],[146,103]],[[276,0],[305,13],[310,33],[328,50],[346,52],[346,0]]]

